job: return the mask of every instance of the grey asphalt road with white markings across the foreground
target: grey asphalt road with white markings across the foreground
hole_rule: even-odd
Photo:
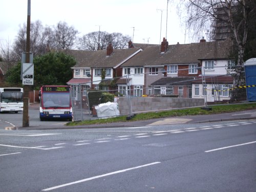
[[[0,191],[256,191],[255,125],[0,130]]]

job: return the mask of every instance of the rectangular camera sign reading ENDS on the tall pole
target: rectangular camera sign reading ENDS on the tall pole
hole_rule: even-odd
[[[23,79],[22,84],[32,86],[34,84],[34,64],[23,63]]]

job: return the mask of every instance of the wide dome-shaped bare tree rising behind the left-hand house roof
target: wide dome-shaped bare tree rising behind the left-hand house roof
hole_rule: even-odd
[[[131,39],[129,36],[123,36],[121,33],[108,33],[105,31],[95,31],[83,35],[78,39],[78,49],[80,50],[104,50],[109,44],[114,49],[124,49],[127,42]]]

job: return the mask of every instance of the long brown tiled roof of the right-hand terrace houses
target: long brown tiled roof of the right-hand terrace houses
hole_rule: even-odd
[[[230,40],[169,45],[165,53],[160,46],[148,46],[126,61],[122,67],[199,63],[203,59],[228,59]]]

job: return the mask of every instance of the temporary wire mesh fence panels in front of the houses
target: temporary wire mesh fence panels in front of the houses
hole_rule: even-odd
[[[190,71],[194,73],[189,74]],[[117,102],[120,115],[130,116],[135,113],[246,101],[243,67],[210,65],[142,72],[138,68],[134,73],[131,70],[122,77],[71,86],[74,120],[97,118],[95,106],[104,103],[102,93],[115,95],[113,101]]]

